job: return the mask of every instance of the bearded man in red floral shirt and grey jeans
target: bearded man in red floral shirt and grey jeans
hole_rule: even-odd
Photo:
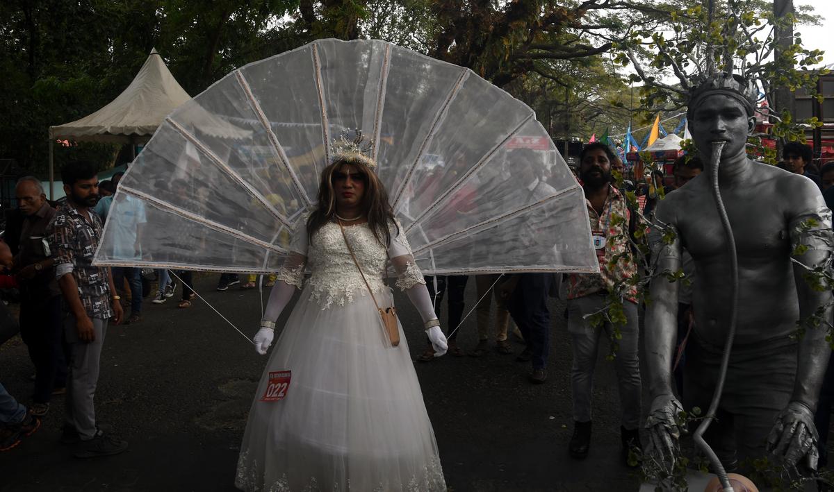
[[[640,362],[637,359],[638,335],[636,286],[626,280],[636,275],[637,267],[630,254],[629,230],[631,210],[625,196],[611,186],[611,163],[614,152],[607,145],[595,142],[582,149],[579,177],[585,190],[590,218],[590,231],[600,272],[572,274],[568,277],[568,332],[573,351],[570,386],[573,393],[574,434],[570,440],[570,455],[584,459],[590,449],[591,409],[594,368],[597,346],[603,330],[620,340],[615,358],[620,386],[622,410],[620,437],[624,459],[631,445],[640,445],[638,425],[641,418]],[[612,260],[618,258],[618,261]],[[599,326],[591,326],[585,316],[609,312],[610,299],[621,301],[625,323],[606,319]]]

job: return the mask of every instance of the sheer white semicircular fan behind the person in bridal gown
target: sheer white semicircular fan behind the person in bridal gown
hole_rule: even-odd
[[[330,142],[360,129],[426,275],[598,271],[582,189],[535,114],[381,41],[250,63],[168,116],[113,200],[100,265],[279,268]]]

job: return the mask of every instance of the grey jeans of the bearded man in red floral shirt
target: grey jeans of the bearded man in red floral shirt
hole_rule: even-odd
[[[600,334],[603,330],[609,337],[614,334],[614,326],[610,323],[592,327],[583,316],[600,311],[603,306],[605,296],[597,294],[568,301],[568,332],[573,350],[570,390],[573,393],[574,420],[577,422],[591,420],[590,400],[594,391],[594,369]],[[627,322],[625,326],[619,326],[622,338],[618,340],[620,348],[616,352],[615,365],[620,386],[622,425],[625,429],[634,430],[640,426],[641,412],[640,360],[637,355],[640,328],[637,325],[637,305],[623,301],[623,311]]]

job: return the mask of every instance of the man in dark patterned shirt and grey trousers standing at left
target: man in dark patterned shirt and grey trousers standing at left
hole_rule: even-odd
[[[108,320],[113,317],[117,325],[122,321],[110,269],[93,266],[102,233],[101,219],[91,210],[98,201],[98,178],[89,162],[71,162],[61,176],[67,204],[55,213],[47,236],[70,313],[64,328],[70,360],[62,442],[77,443],[78,458],[116,455],[128,443],[98,430],[93,406]]]

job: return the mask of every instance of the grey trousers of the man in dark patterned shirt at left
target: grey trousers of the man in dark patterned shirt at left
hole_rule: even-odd
[[[98,384],[98,362],[101,359],[104,335],[108,320],[93,318],[96,340],[78,340],[75,316],[67,316],[64,335],[69,345],[69,370],[67,374],[67,402],[64,423],[78,431],[82,440],[93,439],[96,434],[96,410],[93,400]]]

